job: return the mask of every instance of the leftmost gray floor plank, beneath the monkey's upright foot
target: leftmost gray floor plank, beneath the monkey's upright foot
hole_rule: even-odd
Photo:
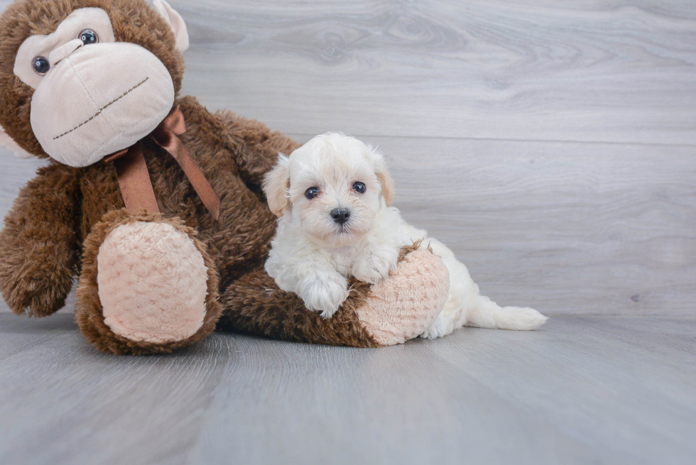
[[[24,336],[21,351],[0,359],[4,464],[183,463],[220,363],[234,354],[234,338],[217,337],[175,356],[116,357],[88,346],[69,313],[38,322],[0,314],[0,322],[3,341]],[[42,340],[48,324],[62,329]]]

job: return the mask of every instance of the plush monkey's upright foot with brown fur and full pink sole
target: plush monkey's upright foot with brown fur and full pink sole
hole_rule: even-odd
[[[210,334],[220,314],[217,273],[178,219],[109,212],[85,241],[75,319],[114,354],[170,352]]]

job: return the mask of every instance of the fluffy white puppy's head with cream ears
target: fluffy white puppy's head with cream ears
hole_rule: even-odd
[[[379,208],[393,202],[394,183],[374,148],[326,133],[289,157],[281,155],[266,175],[263,191],[278,217],[292,214],[306,234],[340,247],[372,229]]]

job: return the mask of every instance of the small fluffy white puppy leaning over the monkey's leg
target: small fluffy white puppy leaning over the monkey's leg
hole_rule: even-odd
[[[348,297],[347,277],[377,283],[396,268],[401,247],[424,239],[423,246],[450,271],[450,295],[422,337],[441,337],[464,325],[535,329],[547,319],[531,308],[499,307],[479,295],[455,254],[390,206],[394,186],[384,158],[356,138],[326,133],[289,157],[281,154],[263,191],[280,217],[266,271],[278,287],[295,292],[325,318]]]

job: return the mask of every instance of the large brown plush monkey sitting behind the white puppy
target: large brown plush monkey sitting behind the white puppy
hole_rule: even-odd
[[[19,0],[2,14],[0,143],[51,158],[0,233],[11,310],[53,314],[79,276],[77,324],[114,354],[172,351],[216,325],[363,347],[423,332],[449,286],[427,251],[354,283],[331,319],[266,275],[276,218],[260,185],[298,145],[178,97],[187,45],[163,0]]]

